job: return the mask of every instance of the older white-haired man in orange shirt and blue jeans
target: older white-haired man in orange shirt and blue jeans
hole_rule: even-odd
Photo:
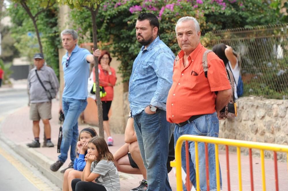
[[[200,43],[200,26],[193,17],[180,18],[175,27],[181,48],[174,61],[173,84],[167,98],[167,121],[175,123],[175,143],[183,134],[218,137],[219,111],[229,102],[230,82],[224,63],[215,53],[208,53],[208,76],[202,66],[207,50]],[[215,91],[218,91],[216,96]],[[195,147],[189,142],[190,180],[196,185]],[[204,143],[198,143],[200,190],[207,190]],[[208,145],[210,190],[217,190],[215,146]],[[182,167],[185,169],[185,147],[182,147]],[[221,178],[221,177],[220,177]],[[221,184],[221,183],[220,183]]]

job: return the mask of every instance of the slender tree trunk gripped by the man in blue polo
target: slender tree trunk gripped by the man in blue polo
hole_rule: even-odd
[[[98,13],[99,5],[97,9],[94,10],[90,8],[91,16],[92,16],[92,30],[93,30],[93,43],[94,50],[97,49],[97,25],[96,25],[96,16]],[[96,103],[98,109],[98,121],[99,121],[99,136],[104,138],[104,128],[103,128],[103,108],[102,102],[100,98],[100,89],[99,89],[99,72],[98,72],[98,57],[94,57],[95,60],[95,83],[96,83]]]

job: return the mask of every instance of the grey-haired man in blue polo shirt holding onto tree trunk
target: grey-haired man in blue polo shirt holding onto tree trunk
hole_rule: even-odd
[[[99,49],[93,55],[77,45],[77,32],[65,29],[61,32],[62,45],[67,53],[62,58],[64,71],[64,90],[60,110],[64,111],[63,137],[58,160],[50,166],[52,171],[57,171],[68,156],[70,149],[71,163],[68,168],[73,168],[75,160],[76,143],[78,139],[78,118],[87,106],[87,86],[89,77],[89,63],[94,63],[94,56],[99,57]],[[67,169],[67,168],[66,168]],[[61,171],[64,173],[66,170]]]

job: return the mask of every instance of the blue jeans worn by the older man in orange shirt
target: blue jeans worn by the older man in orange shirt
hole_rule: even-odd
[[[219,133],[219,120],[217,117],[217,113],[206,114],[198,117],[190,124],[186,124],[184,126],[175,125],[174,130],[174,138],[175,144],[177,139],[181,135],[189,134],[189,135],[201,135],[201,136],[210,136],[210,137],[218,137]],[[192,184],[196,188],[196,165],[195,165],[195,143],[194,141],[188,142],[189,146],[189,161],[190,161],[190,180]],[[216,191],[216,165],[215,165],[215,145],[208,144],[208,156],[209,156],[209,182],[210,182],[210,190]],[[181,162],[182,167],[186,171],[186,154],[185,154],[185,142],[183,142],[181,149]],[[203,142],[198,142],[198,159],[199,159],[199,178],[200,178],[200,190],[206,191],[206,163],[205,163],[205,147]],[[220,166],[219,166],[220,167]],[[220,171],[220,186],[222,186],[221,180],[221,171]],[[186,190],[185,185],[183,185],[183,189]]]

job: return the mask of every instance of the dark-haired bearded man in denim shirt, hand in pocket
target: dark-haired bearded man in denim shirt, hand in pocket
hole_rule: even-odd
[[[166,162],[174,124],[166,121],[166,99],[175,56],[158,36],[159,22],[155,15],[141,13],[135,28],[137,40],[143,47],[133,63],[129,81],[131,114],[147,169],[148,190],[170,191]],[[141,187],[143,185],[132,191]]]

